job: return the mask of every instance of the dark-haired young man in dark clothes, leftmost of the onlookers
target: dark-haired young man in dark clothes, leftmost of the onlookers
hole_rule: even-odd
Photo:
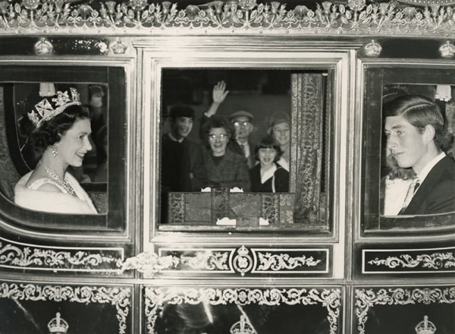
[[[163,191],[201,191],[207,173],[202,148],[187,137],[192,130],[195,111],[178,104],[169,111],[170,131],[161,141],[161,185]]]

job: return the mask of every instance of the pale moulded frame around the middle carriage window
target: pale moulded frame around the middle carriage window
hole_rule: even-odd
[[[213,45],[210,49],[213,48]],[[328,153],[327,157],[330,157],[331,161],[327,166],[330,166],[330,175],[327,180],[331,181],[331,191],[329,204],[327,209],[329,210],[329,230],[322,231],[321,229],[311,229],[311,228],[292,228],[289,231],[284,228],[275,228],[273,230],[260,230],[258,228],[242,228],[238,229],[235,227],[226,227],[226,226],[209,226],[209,228],[200,226],[200,225],[179,225],[175,228],[163,228],[164,224],[160,224],[159,216],[159,168],[160,161],[159,159],[151,159],[151,157],[159,157],[160,141],[154,141],[151,143],[150,156],[145,157],[146,161],[151,160],[150,166],[146,166],[144,175],[149,175],[150,173],[150,185],[151,192],[150,198],[144,197],[144,205],[149,204],[149,208],[144,214],[144,219],[151,221],[149,237],[153,238],[154,235],[165,235],[169,232],[195,232],[195,233],[206,233],[206,232],[215,232],[217,235],[221,236],[220,232],[235,232],[235,234],[248,235],[250,233],[270,235],[270,232],[293,232],[294,234],[306,234],[311,237],[318,237],[322,239],[337,239],[338,238],[338,222],[340,217],[340,212],[344,214],[345,204],[339,205],[340,202],[345,201],[345,193],[342,196],[339,196],[340,191],[345,191],[345,177],[346,175],[342,173],[337,173],[340,168],[340,165],[345,164],[346,154],[340,155],[340,151],[345,150],[346,145],[341,145],[341,142],[345,141],[346,127],[347,124],[342,122],[345,121],[343,115],[346,115],[347,111],[347,100],[341,92],[347,92],[347,72],[345,71],[349,65],[347,62],[347,53],[340,51],[336,54],[325,54],[324,51],[320,52],[308,52],[299,49],[295,52],[284,52],[276,51],[274,47],[267,47],[267,45],[262,45],[259,50],[254,49],[251,51],[251,48],[245,47],[246,50],[240,52],[240,49],[243,49],[244,46],[240,46],[239,49],[235,51],[226,52],[223,51],[220,54],[220,51],[210,51],[206,50],[206,47],[203,46],[204,54],[201,53],[199,49],[192,49],[188,51],[185,49],[185,57],[176,58],[175,54],[179,54],[179,51],[172,49],[172,54],[169,54],[168,50],[160,49],[159,47],[148,48],[144,51],[144,71],[146,75],[151,74],[151,79],[146,81],[144,90],[149,92],[146,95],[146,106],[145,112],[150,115],[155,115],[156,118],[151,118],[151,128],[149,131],[146,131],[147,134],[150,134],[150,138],[159,138],[160,134],[160,99],[156,97],[160,96],[161,92],[161,80],[162,80],[162,70],[166,67],[181,67],[181,68],[270,68],[270,69],[296,69],[296,70],[327,70],[333,71],[333,76],[328,81],[330,82],[332,90],[329,91],[328,96],[331,99],[331,108],[329,108],[329,113],[331,113],[331,152]],[[264,49],[263,49],[264,48]],[[294,50],[293,50],[294,51]],[[344,85],[344,86],[343,86]],[[328,88],[330,89],[330,88]],[[147,103],[149,100],[149,103]],[[150,110],[150,111],[149,111]],[[341,182],[339,182],[342,180]],[[147,182],[147,179],[144,180]],[[146,183],[147,184],[147,183]],[[147,194],[147,191],[144,192]],[[297,235],[296,234],[296,235]],[[285,234],[283,234],[284,236]],[[290,235],[290,234],[288,234]]]

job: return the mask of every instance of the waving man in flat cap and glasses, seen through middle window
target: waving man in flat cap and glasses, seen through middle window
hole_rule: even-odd
[[[226,83],[224,81],[218,82],[213,87],[213,102],[208,111],[202,116],[201,129],[208,118],[215,115],[218,107],[224,101],[228,93],[229,90],[226,90]],[[232,113],[229,116],[229,120],[231,120],[235,127],[235,141],[229,142],[229,150],[247,158],[248,168],[254,167],[256,164],[256,160],[254,159],[254,145],[249,141],[249,135],[254,129],[254,116],[248,111],[235,111],[235,113]],[[203,134],[200,134],[200,136],[203,138]]]

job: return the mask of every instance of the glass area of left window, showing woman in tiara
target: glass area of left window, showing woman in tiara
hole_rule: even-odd
[[[25,173],[15,187],[15,202],[44,212],[105,213],[107,85],[3,87],[11,95],[6,100],[13,102],[17,124],[18,146],[10,145],[10,154]]]

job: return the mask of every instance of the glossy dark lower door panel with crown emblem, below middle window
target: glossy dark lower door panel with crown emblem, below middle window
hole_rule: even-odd
[[[269,303],[165,303],[158,309],[155,333],[329,333],[327,310],[317,302],[303,305]]]

